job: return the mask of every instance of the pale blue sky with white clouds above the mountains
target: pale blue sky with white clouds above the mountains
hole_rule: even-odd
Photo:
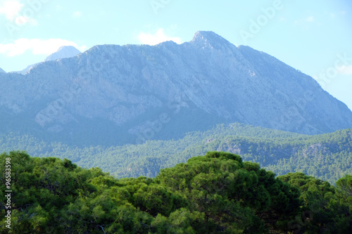
[[[199,30],[282,60],[352,110],[351,0],[0,0],[0,67],[23,70],[60,46],[181,44]]]

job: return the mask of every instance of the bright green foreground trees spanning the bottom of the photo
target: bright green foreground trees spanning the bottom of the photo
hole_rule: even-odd
[[[1,233],[352,230],[351,175],[336,186],[299,172],[275,178],[229,152],[191,157],[155,178],[117,179],[99,168],[25,152],[3,153],[0,162]]]

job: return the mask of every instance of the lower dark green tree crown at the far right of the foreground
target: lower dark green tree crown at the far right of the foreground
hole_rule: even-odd
[[[327,181],[299,172],[279,176],[280,180],[301,190],[304,206],[301,215],[291,221],[290,227],[296,233],[351,233],[352,207],[348,190],[352,186],[346,183],[351,177],[340,178],[335,188]]]

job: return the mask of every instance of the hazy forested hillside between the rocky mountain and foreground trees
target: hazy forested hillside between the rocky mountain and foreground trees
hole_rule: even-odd
[[[169,141],[84,148],[8,133],[0,135],[0,149],[25,150],[36,157],[68,158],[80,167],[99,167],[118,178],[155,177],[160,169],[208,151],[239,154],[244,161],[258,162],[277,175],[301,171],[332,184],[352,174],[352,129],[308,136],[238,123],[220,124]]]

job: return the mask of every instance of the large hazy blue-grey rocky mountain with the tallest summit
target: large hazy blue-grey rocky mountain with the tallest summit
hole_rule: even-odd
[[[0,80],[1,131],[72,145],[180,138],[231,122],[300,134],[352,126],[351,110],[312,77],[214,32],[180,45],[94,46]]]

